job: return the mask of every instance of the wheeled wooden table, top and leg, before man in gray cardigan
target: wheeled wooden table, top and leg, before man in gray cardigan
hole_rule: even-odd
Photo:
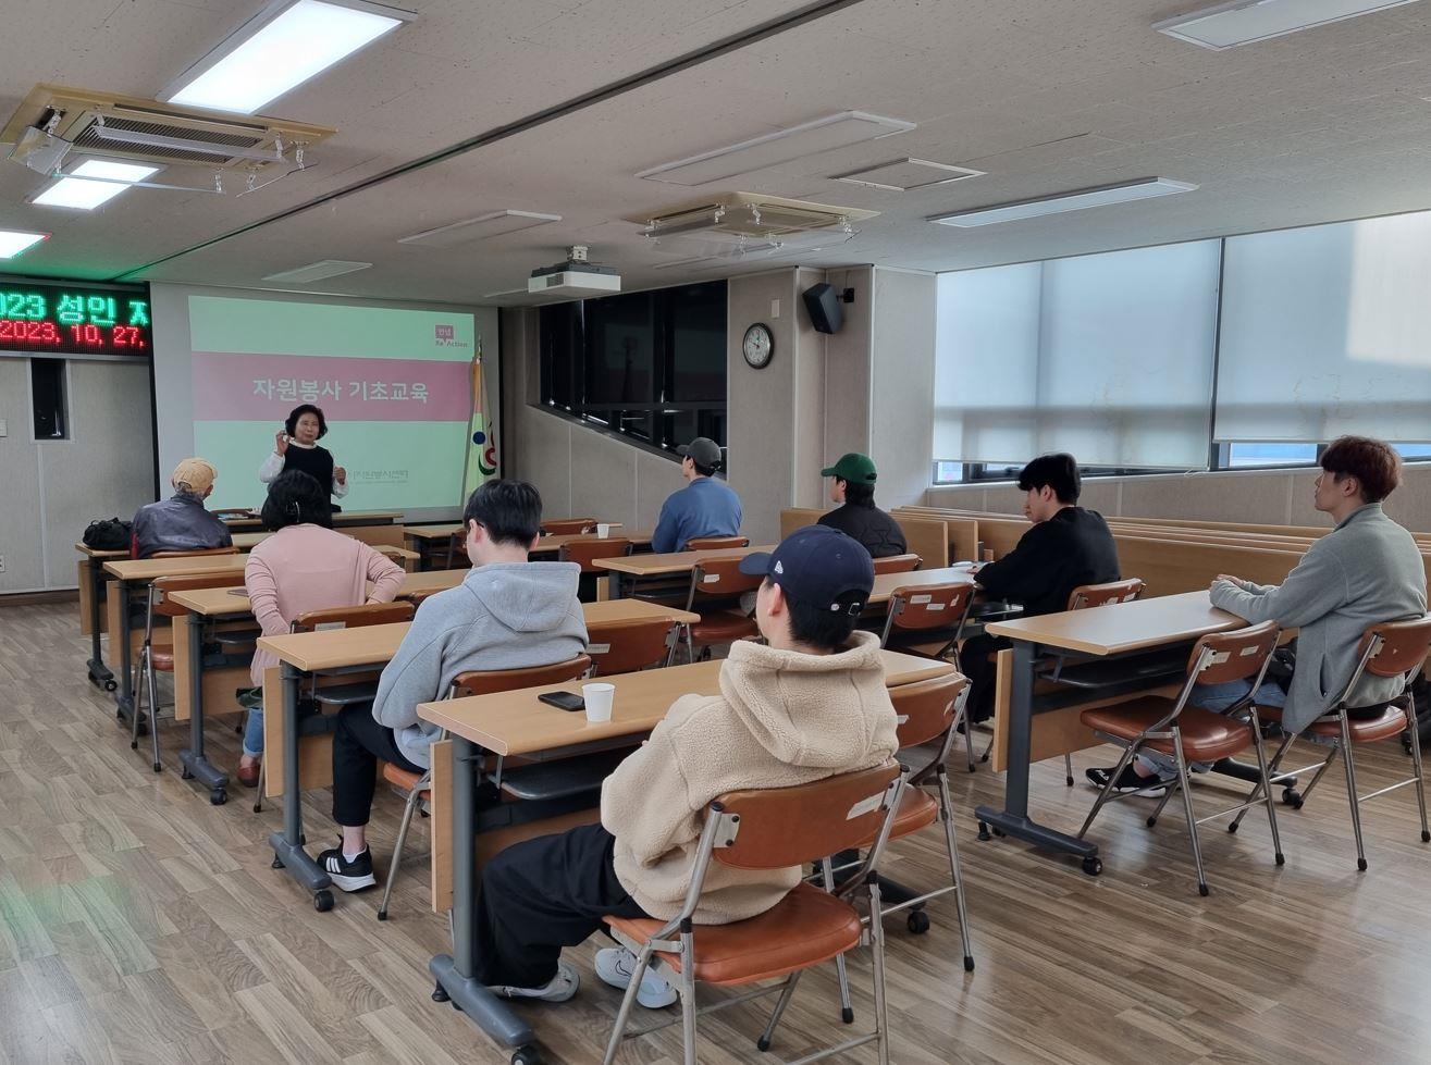
[[[1096,610],[1070,610],[1059,614],[1025,617],[1013,621],[992,621],[985,626],[990,636],[1013,641],[1013,676],[1009,699],[1009,753],[1005,776],[1003,809],[979,806],[975,814],[980,823],[993,826],[1006,836],[1035,843],[1047,850],[1083,859],[1083,870],[1096,876],[1102,872],[1098,845],[1075,839],[1049,829],[1029,817],[1029,762],[1033,734],[1033,714],[1086,700],[1079,690],[1053,691],[1035,697],[1033,681],[1037,661],[1045,654],[1078,653],[1098,658],[1118,658],[1139,651],[1192,643],[1208,633],[1242,628],[1246,623],[1215,608],[1206,591],[1113,603]],[[1146,681],[1130,681],[1130,690],[1146,687]]]

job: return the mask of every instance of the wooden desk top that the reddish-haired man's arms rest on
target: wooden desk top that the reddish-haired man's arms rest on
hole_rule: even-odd
[[[1216,610],[1208,601],[1206,591],[1185,591],[1092,610],[993,621],[985,626],[985,631],[1010,640],[1032,640],[1046,647],[1103,656],[1196,640],[1208,633],[1225,633],[1245,624],[1242,618]]]

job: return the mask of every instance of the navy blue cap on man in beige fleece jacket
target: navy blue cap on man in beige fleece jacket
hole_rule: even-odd
[[[796,603],[851,616],[864,611],[874,587],[874,563],[864,545],[829,525],[797,528],[774,551],[740,560],[748,577],[768,577]]]

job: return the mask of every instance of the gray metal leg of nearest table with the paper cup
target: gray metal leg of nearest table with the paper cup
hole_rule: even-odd
[[[477,774],[482,756],[461,736],[452,737],[452,953],[436,955],[428,971],[438,982],[432,998],[467,1013],[499,1046],[517,1049],[535,1041],[531,1025],[472,978],[477,969]]]

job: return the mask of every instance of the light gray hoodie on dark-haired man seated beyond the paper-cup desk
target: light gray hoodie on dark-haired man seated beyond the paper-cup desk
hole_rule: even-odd
[[[372,704],[404,757],[428,767],[438,729],[418,721],[418,703],[446,696],[459,673],[550,666],[587,648],[580,575],[575,563],[497,563],[424,600]]]

